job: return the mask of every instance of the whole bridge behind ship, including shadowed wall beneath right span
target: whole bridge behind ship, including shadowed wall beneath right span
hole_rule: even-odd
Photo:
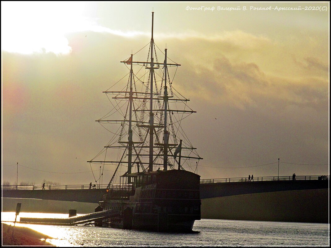
[[[328,223],[329,176],[205,179],[201,218]],[[2,197],[98,203],[107,185],[2,186]],[[96,205],[97,206],[97,205]]]

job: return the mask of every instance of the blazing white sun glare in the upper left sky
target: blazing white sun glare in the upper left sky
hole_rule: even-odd
[[[8,52],[68,54],[64,34],[91,23],[83,16],[84,3],[2,2],[1,7],[1,45]]]

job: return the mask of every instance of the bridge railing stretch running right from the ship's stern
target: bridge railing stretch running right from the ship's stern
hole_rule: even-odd
[[[236,183],[236,182],[261,182],[261,181],[296,181],[296,180],[329,180],[329,176],[275,176],[275,177],[253,177],[253,180],[248,180],[248,177],[238,178],[219,178],[219,179],[202,179],[200,184],[214,183]]]

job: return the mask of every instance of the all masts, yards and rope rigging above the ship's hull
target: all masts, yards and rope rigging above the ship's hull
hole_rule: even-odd
[[[182,120],[196,111],[188,107],[187,102],[190,100],[173,87],[173,79],[180,64],[167,57],[167,49],[163,53],[154,43],[153,23],[154,12],[147,59],[135,59],[141,54],[141,49],[120,61],[129,70],[127,82],[120,91],[111,89],[120,85],[123,78],[103,91],[113,108],[96,122],[111,132],[113,137],[87,162],[91,169],[92,164],[102,164],[103,170],[105,165],[116,166],[107,188],[123,172],[125,176],[133,172],[152,172],[161,167],[164,171],[178,169],[197,173],[198,163],[202,159],[181,128]],[[156,48],[164,54],[164,62],[159,62]],[[140,66],[140,69],[134,72],[133,66]],[[169,75],[171,67],[175,69],[172,79]],[[120,124],[116,133],[106,127],[109,123]],[[115,156],[109,149],[118,149],[117,159],[107,159],[107,156]],[[100,182],[103,172],[99,178],[93,174],[96,182]],[[127,180],[130,184],[131,178],[127,177]]]

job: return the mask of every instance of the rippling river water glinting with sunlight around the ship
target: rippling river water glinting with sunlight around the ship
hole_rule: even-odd
[[[68,214],[20,213],[18,217],[68,218]],[[14,212],[1,213],[2,221],[14,219]],[[59,247],[330,246],[330,225],[319,223],[202,219],[195,221],[192,233],[163,233],[110,227],[68,227],[19,223],[16,225],[29,227],[54,237],[47,241]]]

